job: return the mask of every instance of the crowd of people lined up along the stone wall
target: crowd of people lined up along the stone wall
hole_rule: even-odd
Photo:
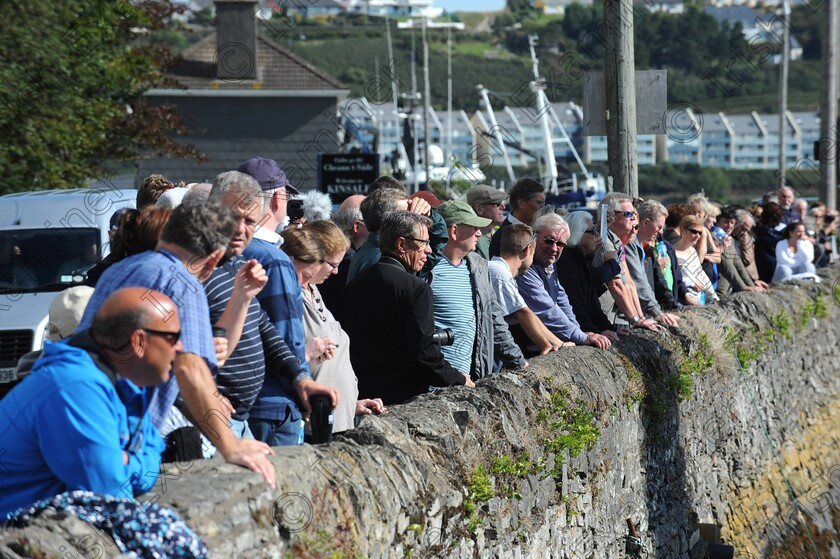
[[[592,213],[546,206],[531,178],[442,202],[381,177],[291,220],[299,195],[262,158],[212,184],[144,181],[89,287],[51,309],[56,343],[0,401],[0,516],[79,489],[131,497],[161,458],[218,453],[273,486],[271,447],[307,440],[314,396],[347,431],[536,355],[678,326],[686,306],[816,279],[836,250],[836,212],[787,188],[749,208],[610,193]]]

